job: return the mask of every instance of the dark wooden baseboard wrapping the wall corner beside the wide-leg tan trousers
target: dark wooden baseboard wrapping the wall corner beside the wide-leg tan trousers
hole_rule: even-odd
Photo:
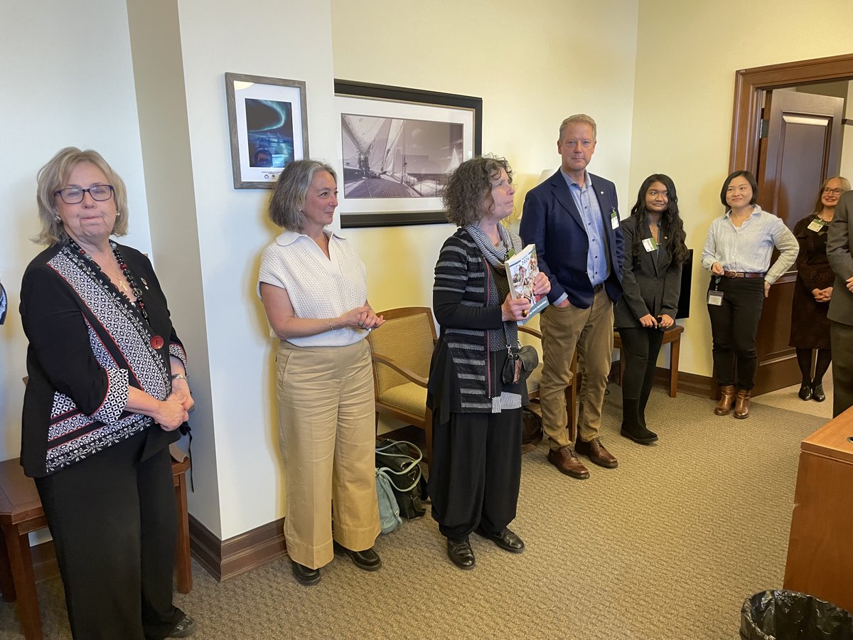
[[[205,571],[222,582],[287,555],[284,518],[220,540],[190,514],[189,547]]]

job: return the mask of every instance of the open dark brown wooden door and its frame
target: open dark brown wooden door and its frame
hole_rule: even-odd
[[[845,114],[853,115],[853,96],[850,96],[849,89],[851,79],[853,55],[755,67],[736,73],[729,170],[753,172],[760,185],[759,204],[769,212],[780,214],[789,227],[809,213],[800,210],[802,202],[814,201],[822,180],[838,174],[842,167],[850,166],[853,128]],[[809,90],[806,90],[806,85]],[[841,103],[841,107],[834,111],[833,98],[821,100],[821,96],[816,95],[820,91],[824,96],[833,96],[842,91],[842,87],[847,92],[843,97],[834,98]],[[784,103],[789,106],[783,106]],[[766,121],[772,112],[778,117],[780,109],[784,112],[786,108],[790,116],[787,121],[792,123],[787,142],[791,143],[794,136],[802,139],[789,144],[788,157],[783,163],[781,158],[786,148],[784,145],[778,147],[778,139],[768,142]],[[844,133],[848,134],[846,145],[843,144]],[[781,137],[784,142],[785,134]],[[777,144],[777,148],[773,148],[773,144]],[[810,149],[810,155],[805,154],[806,149]],[[807,160],[803,160],[803,171],[798,172],[796,166],[801,157]],[[781,170],[783,165],[786,166],[786,175]],[[796,184],[794,180],[797,180]],[[796,271],[782,276],[765,300],[758,329],[759,365],[754,395],[800,381],[796,352],[788,346],[796,276]]]

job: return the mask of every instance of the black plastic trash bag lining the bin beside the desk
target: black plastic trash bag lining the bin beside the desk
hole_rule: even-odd
[[[815,596],[777,589],[746,598],[743,640],[853,640],[853,615]]]

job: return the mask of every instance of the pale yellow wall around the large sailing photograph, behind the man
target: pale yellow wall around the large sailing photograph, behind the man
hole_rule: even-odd
[[[624,216],[636,19],[636,2],[624,0],[403,0],[393,11],[376,0],[332,0],[334,76],[482,97],[483,152],[505,156],[519,187],[515,229],[526,192],[543,169],[560,166],[560,122],[589,113],[599,138],[590,171],[616,183]],[[367,266],[374,308],[431,306],[432,269],[453,231],[347,230]],[[397,426],[383,419],[380,430]]]

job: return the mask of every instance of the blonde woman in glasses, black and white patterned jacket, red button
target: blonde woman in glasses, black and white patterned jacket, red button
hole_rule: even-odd
[[[127,233],[125,183],[68,147],[38,173],[20,315],[30,341],[20,461],[44,506],[73,637],[186,637],[172,604],[177,510],[169,444],[193,408],[186,354],[148,259]]]

